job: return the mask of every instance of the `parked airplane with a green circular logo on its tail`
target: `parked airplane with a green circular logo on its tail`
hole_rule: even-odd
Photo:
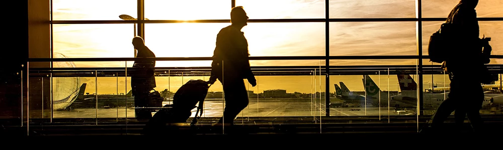
[[[382,91],[379,86],[372,80],[369,75],[363,75],[362,78],[363,85],[365,87],[365,95],[367,97],[366,100],[370,101],[372,105],[387,107],[388,101],[389,106],[410,106],[408,103],[400,102],[393,100],[388,92]]]

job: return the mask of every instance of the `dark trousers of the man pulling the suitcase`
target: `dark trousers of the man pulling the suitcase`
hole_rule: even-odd
[[[223,85],[225,94],[225,108],[220,123],[234,124],[234,118],[248,106],[248,93],[243,79],[225,80]]]

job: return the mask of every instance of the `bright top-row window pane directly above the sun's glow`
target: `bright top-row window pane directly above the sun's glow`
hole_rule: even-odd
[[[144,0],[151,20],[229,19],[230,0]],[[246,10],[246,9],[245,9]]]

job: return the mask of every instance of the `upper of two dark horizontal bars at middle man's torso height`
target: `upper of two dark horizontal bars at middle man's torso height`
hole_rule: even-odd
[[[344,55],[344,56],[250,56],[249,60],[325,60],[325,59],[428,59],[429,55]],[[490,58],[503,58],[503,55],[491,55]],[[189,61],[213,60],[213,57],[90,57],[90,58],[28,58],[28,62],[55,61]]]

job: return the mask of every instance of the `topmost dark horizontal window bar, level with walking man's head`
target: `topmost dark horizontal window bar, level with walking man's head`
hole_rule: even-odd
[[[421,21],[445,21],[443,17],[423,17]],[[400,22],[418,21],[420,18],[282,18],[248,19],[248,22]],[[479,21],[503,21],[503,17],[478,17]],[[230,23],[230,19],[197,20],[51,20],[52,24],[116,24],[116,23]]]

